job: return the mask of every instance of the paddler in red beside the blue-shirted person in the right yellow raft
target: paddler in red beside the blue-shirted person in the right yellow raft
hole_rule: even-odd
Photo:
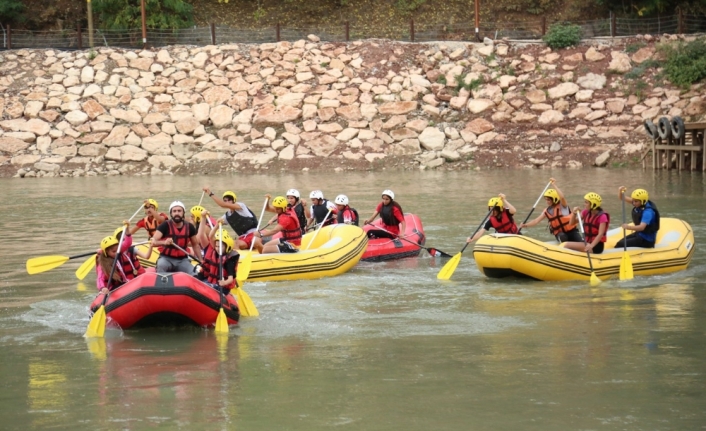
[[[601,254],[606,240],[606,232],[610,224],[610,215],[603,211],[601,204],[603,199],[598,193],[587,193],[584,199],[584,209],[579,216],[579,208],[574,208],[572,221],[578,223],[578,217],[583,220],[583,231],[585,241],[566,242],[565,248],[588,253]]]

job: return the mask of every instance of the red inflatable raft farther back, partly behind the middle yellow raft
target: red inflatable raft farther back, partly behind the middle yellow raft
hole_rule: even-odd
[[[415,214],[405,214],[404,220],[407,224],[406,237],[404,239],[371,238],[368,240],[368,247],[365,249],[361,260],[378,262],[419,256],[426,241],[422,221]],[[382,220],[377,219],[371,224],[363,226],[363,230],[368,232],[381,226]]]

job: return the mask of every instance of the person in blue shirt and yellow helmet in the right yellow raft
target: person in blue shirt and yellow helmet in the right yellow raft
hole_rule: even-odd
[[[623,224],[625,230],[633,231],[630,235],[621,239],[615,244],[616,248],[623,245],[627,247],[654,248],[657,241],[657,231],[659,230],[659,210],[657,205],[650,200],[650,196],[645,189],[636,189],[630,196],[625,196],[625,186],[618,189],[618,197],[625,202],[631,203],[632,225]]]

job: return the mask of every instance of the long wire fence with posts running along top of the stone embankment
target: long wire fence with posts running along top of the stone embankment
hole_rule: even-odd
[[[346,22],[335,27],[281,27],[276,25],[261,29],[237,29],[211,24],[207,27],[193,27],[174,30],[147,30],[147,46],[163,47],[169,45],[215,45],[224,43],[268,43],[296,41],[309,34],[316,34],[323,41],[346,42],[358,39],[391,39],[406,42],[430,41],[473,41],[490,37],[491,39],[539,40],[551,26],[545,17],[521,22],[486,22],[482,23],[478,34],[473,22],[418,24],[413,20],[390,25],[385,29],[370,28],[365,24],[351,25]],[[583,30],[584,38],[631,36],[637,34],[661,35],[704,33],[706,16],[673,15],[658,18],[617,18],[589,21],[574,21]],[[67,30],[30,31],[16,30],[8,26],[2,29],[2,48],[53,48],[84,49],[90,46],[86,29],[77,27]],[[145,46],[142,31],[135,30],[94,30],[94,46],[120,48],[142,48]]]

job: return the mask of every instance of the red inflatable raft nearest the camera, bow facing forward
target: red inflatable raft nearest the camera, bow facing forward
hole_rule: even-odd
[[[240,313],[235,298],[228,294],[223,299],[228,324],[238,323]],[[91,304],[91,311],[95,313],[102,303],[103,294],[99,294]],[[183,272],[147,272],[110,292],[105,303],[108,320],[122,329],[184,324],[213,326],[220,308],[221,294],[216,289]]]

